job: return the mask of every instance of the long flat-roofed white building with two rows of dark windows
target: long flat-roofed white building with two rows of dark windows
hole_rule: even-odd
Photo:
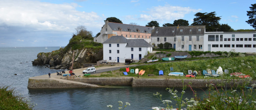
[[[252,32],[205,32],[204,51],[256,52],[256,31]]]

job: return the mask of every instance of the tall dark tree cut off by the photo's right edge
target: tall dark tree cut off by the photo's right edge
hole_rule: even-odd
[[[249,16],[249,20],[245,21],[248,24],[251,24],[254,29],[256,29],[256,3],[251,4],[252,7],[250,7],[251,11],[247,11],[247,16]]]

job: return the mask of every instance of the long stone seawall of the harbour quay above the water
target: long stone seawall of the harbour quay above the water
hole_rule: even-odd
[[[137,78],[74,78],[74,79],[28,79],[28,88],[85,88],[101,86],[133,86],[133,87],[182,87],[191,83],[191,87],[206,87],[206,84],[225,84],[226,87],[242,85],[243,80],[221,79],[137,79]],[[250,81],[255,84],[255,80]]]

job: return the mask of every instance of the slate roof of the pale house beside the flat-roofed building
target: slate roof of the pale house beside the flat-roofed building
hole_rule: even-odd
[[[180,31],[181,29],[182,29],[182,32]],[[201,29],[201,31],[198,31],[198,29]],[[155,27],[154,30],[152,30],[151,37],[176,36],[176,35],[204,35],[204,30],[205,30],[205,25]]]

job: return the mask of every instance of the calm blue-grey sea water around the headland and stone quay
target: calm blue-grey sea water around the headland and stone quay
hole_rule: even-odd
[[[37,104],[34,109],[46,110],[105,110],[107,105],[118,109],[117,101],[129,102],[131,106],[125,110],[144,110],[152,106],[164,107],[153,93],[163,94],[163,100],[170,100],[170,94],[163,87],[131,87],[115,86],[114,88],[79,88],[79,89],[28,89],[28,78],[56,72],[45,66],[33,66],[39,52],[52,52],[60,47],[0,47],[1,86],[11,86],[24,97]],[[60,71],[60,70],[59,70]],[[18,74],[18,75],[14,75]],[[180,93],[181,89],[176,88]],[[201,89],[195,88],[203,95]],[[191,98],[190,89],[185,91],[183,98]],[[175,105],[174,101],[173,106]],[[124,107],[124,106],[123,106]],[[174,106],[175,107],[175,106]]]

